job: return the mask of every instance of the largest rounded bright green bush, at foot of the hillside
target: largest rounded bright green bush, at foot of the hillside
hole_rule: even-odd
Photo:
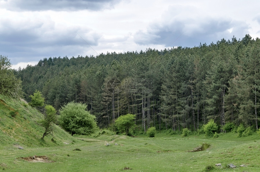
[[[71,135],[90,135],[97,129],[96,117],[86,111],[87,106],[70,102],[60,109],[59,124]]]

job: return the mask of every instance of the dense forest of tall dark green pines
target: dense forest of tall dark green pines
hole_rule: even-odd
[[[56,109],[86,103],[100,127],[130,113],[145,131],[196,130],[210,119],[257,129],[259,60],[260,40],[247,34],[193,48],[44,58],[16,75],[28,101],[39,90]]]

